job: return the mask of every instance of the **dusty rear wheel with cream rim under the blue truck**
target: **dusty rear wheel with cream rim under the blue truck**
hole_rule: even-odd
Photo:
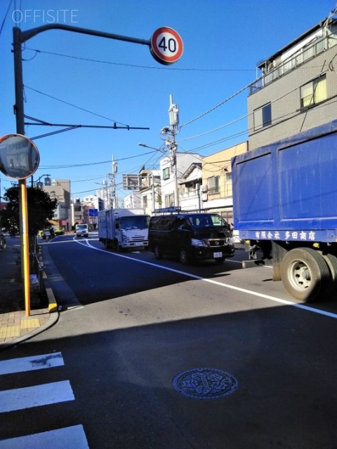
[[[312,302],[330,279],[324,257],[312,248],[295,248],[284,256],[282,283],[296,300]]]

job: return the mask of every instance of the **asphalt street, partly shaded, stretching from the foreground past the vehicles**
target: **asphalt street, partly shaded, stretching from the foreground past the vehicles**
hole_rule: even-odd
[[[242,269],[239,250],[224,264],[183,267],[105,251],[91,234],[57,237],[44,257],[63,310],[53,328],[0,353],[1,399],[34,388],[34,406],[3,405],[0,438],[51,432],[41,448],[336,448],[336,299],[295,304],[269,267]],[[8,371],[25,357],[38,368]]]

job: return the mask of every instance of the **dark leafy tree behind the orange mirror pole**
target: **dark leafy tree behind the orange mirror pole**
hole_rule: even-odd
[[[6,208],[0,210],[1,227],[5,228],[11,236],[18,235],[20,232],[19,189],[18,185],[6,189],[4,194]],[[39,229],[50,226],[48,220],[53,218],[57,207],[58,200],[51,199],[47,192],[37,187],[27,187],[29,237],[36,236]]]

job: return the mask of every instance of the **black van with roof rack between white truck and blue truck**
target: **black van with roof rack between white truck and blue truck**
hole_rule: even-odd
[[[182,264],[211,259],[221,263],[234,255],[230,225],[220,215],[204,212],[153,215],[149,249],[156,259],[177,256]]]

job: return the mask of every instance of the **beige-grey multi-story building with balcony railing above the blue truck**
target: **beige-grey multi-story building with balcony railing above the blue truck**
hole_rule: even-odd
[[[248,98],[249,149],[336,119],[337,20],[331,17],[258,65]]]

